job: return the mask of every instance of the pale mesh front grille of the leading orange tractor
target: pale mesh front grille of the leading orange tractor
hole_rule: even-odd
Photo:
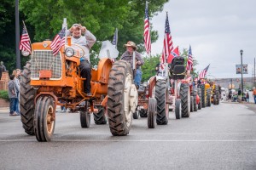
[[[51,50],[34,50],[32,53],[31,78],[39,79],[39,71],[52,71],[50,80],[61,79],[61,56],[53,56]]]

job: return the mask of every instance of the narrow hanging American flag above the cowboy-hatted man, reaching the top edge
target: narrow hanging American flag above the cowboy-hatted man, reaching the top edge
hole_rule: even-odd
[[[145,8],[145,20],[144,20],[144,45],[147,54],[151,53],[151,40],[150,40],[150,25],[148,18],[148,2],[146,2]]]

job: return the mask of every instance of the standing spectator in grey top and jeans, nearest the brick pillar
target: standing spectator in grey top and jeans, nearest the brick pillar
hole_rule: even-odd
[[[15,89],[15,81],[14,81],[15,75],[9,76],[9,82],[8,82],[8,95],[9,95],[9,116],[18,116],[18,114],[15,111],[15,99],[17,99],[17,93]]]

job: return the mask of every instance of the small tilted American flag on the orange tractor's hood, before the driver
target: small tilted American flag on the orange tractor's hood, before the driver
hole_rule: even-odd
[[[49,48],[52,49],[52,53],[55,56],[59,53],[61,47],[65,45],[65,31],[66,28],[63,28],[54,38],[54,40],[50,43]]]

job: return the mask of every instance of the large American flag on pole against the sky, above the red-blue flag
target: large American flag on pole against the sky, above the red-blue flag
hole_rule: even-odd
[[[162,56],[160,58],[162,68],[164,68],[164,64],[166,63],[166,57],[169,56],[172,50],[173,50],[172,36],[171,36],[171,31],[169,26],[168,13],[166,13],[164,48],[163,48]]]

